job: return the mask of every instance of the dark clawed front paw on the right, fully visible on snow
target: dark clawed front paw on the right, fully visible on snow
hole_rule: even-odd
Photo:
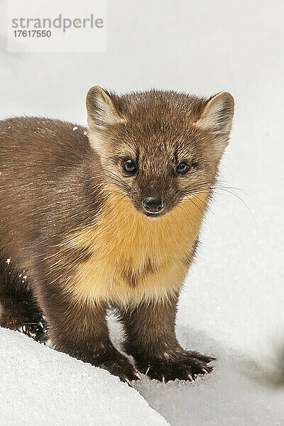
[[[198,354],[197,352],[181,351],[164,354],[163,359],[153,359],[148,364],[139,366],[139,371],[150,378],[167,382],[179,378],[180,380],[195,380],[198,374],[210,373],[212,366],[207,366],[214,358]]]

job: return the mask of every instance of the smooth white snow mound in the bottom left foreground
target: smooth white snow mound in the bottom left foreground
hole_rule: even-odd
[[[0,328],[0,425],[168,425],[107,371]]]

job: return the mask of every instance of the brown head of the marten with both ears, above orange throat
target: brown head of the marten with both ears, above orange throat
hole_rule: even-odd
[[[89,141],[104,180],[148,217],[208,191],[229,141],[234,99],[151,90],[87,94]]]

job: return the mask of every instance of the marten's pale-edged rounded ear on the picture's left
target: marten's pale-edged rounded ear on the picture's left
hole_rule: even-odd
[[[89,140],[94,148],[102,145],[102,133],[108,126],[125,122],[110,95],[99,86],[89,89],[86,98]]]

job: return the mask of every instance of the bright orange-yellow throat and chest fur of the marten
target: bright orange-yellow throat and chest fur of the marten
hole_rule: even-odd
[[[197,204],[198,201],[198,204]],[[68,249],[87,249],[67,290],[76,300],[120,305],[158,300],[180,289],[204,213],[204,200],[152,220],[114,196],[94,224],[70,236]]]

